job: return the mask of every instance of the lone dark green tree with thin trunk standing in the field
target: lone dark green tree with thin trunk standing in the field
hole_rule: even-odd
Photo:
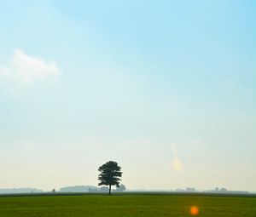
[[[119,177],[122,176],[121,167],[118,163],[109,161],[98,168],[99,174],[98,180],[100,181],[98,186],[109,186],[109,195],[111,195],[111,186],[119,187]]]

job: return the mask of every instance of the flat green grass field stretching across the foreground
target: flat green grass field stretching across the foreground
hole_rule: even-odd
[[[256,197],[83,195],[0,197],[0,217],[256,216]]]

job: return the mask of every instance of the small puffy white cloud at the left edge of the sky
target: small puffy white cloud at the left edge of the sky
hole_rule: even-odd
[[[12,60],[6,66],[0,65],[0,79],[10,83],[11,89],[31,86],[49,77],[60,74],[55,61],[44,61],[16,49]]]

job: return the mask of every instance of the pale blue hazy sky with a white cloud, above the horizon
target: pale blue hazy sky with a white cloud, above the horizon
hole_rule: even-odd
[[[0,188],[256,191],[256,3],[0,0]]]

